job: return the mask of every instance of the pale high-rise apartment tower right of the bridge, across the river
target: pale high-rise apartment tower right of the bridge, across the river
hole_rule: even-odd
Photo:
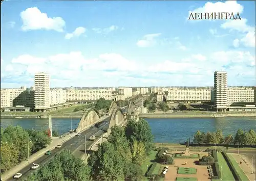
[[[217,111],[227,111],[227,72],[214,72],[215,107]]]

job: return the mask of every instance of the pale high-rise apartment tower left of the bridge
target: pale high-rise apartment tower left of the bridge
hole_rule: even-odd
[[[47,73],[35,74],[35,111],[43,112],[50,107],[50,75]]]

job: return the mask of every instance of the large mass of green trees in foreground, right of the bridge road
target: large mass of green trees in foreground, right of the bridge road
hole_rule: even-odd
[[[152,141],[144,119],[129,120],[125,127],[111,128],[108,142],[91,154],[88,165],[63,151],[28,180],[143,180],[141,165],[154,148]]]

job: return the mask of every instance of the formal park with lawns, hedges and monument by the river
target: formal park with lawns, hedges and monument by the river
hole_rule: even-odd
[[[162,145],[157,147],[156,153],[152,152],[150,156],[151,164],[146,163],[147,179],[166,181],[255,179],[255,172],[252,174],[253,171],[244,171],[241,168],[241,163],[236,158],[237,154],[227,153],[226,150],[216,149],[214,146],[210,149],[190,151],[188,142],[183,149],[184,151],[177,151]]]

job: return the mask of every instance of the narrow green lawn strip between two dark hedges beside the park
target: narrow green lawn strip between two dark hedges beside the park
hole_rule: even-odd
[[[217,154],[218,154],[219,166],[221,169],[222,180],[223,181],[234,180],[233,174],[232,174],[231,170],[229,169],[227,162],[225,161],[221,152],[218,152]]]

